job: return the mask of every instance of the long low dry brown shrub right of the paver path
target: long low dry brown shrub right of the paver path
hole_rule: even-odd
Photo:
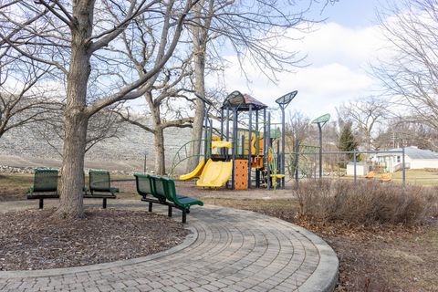
[[[299,214],[352,224],[417,224],[438,214],[433,188],[360,181],[310,181],[297,189]]]

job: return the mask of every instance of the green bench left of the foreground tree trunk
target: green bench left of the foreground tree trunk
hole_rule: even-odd
[[[43,209],[45,199],[58,199],[57,170],[36,169],[34,185],[27,193],[27,200],[39,200],[39,209]]]

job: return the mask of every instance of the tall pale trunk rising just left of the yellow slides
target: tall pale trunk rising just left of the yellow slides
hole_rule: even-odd
[[[196,5],[193,9],[194,14],[200,16],[201,4]],[[200,19],[200,17],[197,17]],[[199,20],[198,20],[199,21]],[[191,158],[187,162],[187,172],[192,172],[196,165],[199,163],[199,152],[201,151],[201,139],[203,139],[203,120],[205,104],[205,42],[204,39],[207,35],[203,31],[202,26],[193,26],[193,63],[194,63],[194,91],[201,99],[196,99],[196,109],[194,111],[192,140],[190,153]]]

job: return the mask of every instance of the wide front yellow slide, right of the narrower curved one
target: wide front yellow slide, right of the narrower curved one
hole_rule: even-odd
[[[233,162],[214,162],[209,159],[196,185],[221,187],[230,179],[232,170]]]

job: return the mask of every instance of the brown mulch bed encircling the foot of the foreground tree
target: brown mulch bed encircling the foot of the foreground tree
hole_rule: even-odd
[[[183,242],[183,224],[142,211],[86,210],[74,222],[54,209],[0,214],[0,270],[85,266],[151,255]]]

